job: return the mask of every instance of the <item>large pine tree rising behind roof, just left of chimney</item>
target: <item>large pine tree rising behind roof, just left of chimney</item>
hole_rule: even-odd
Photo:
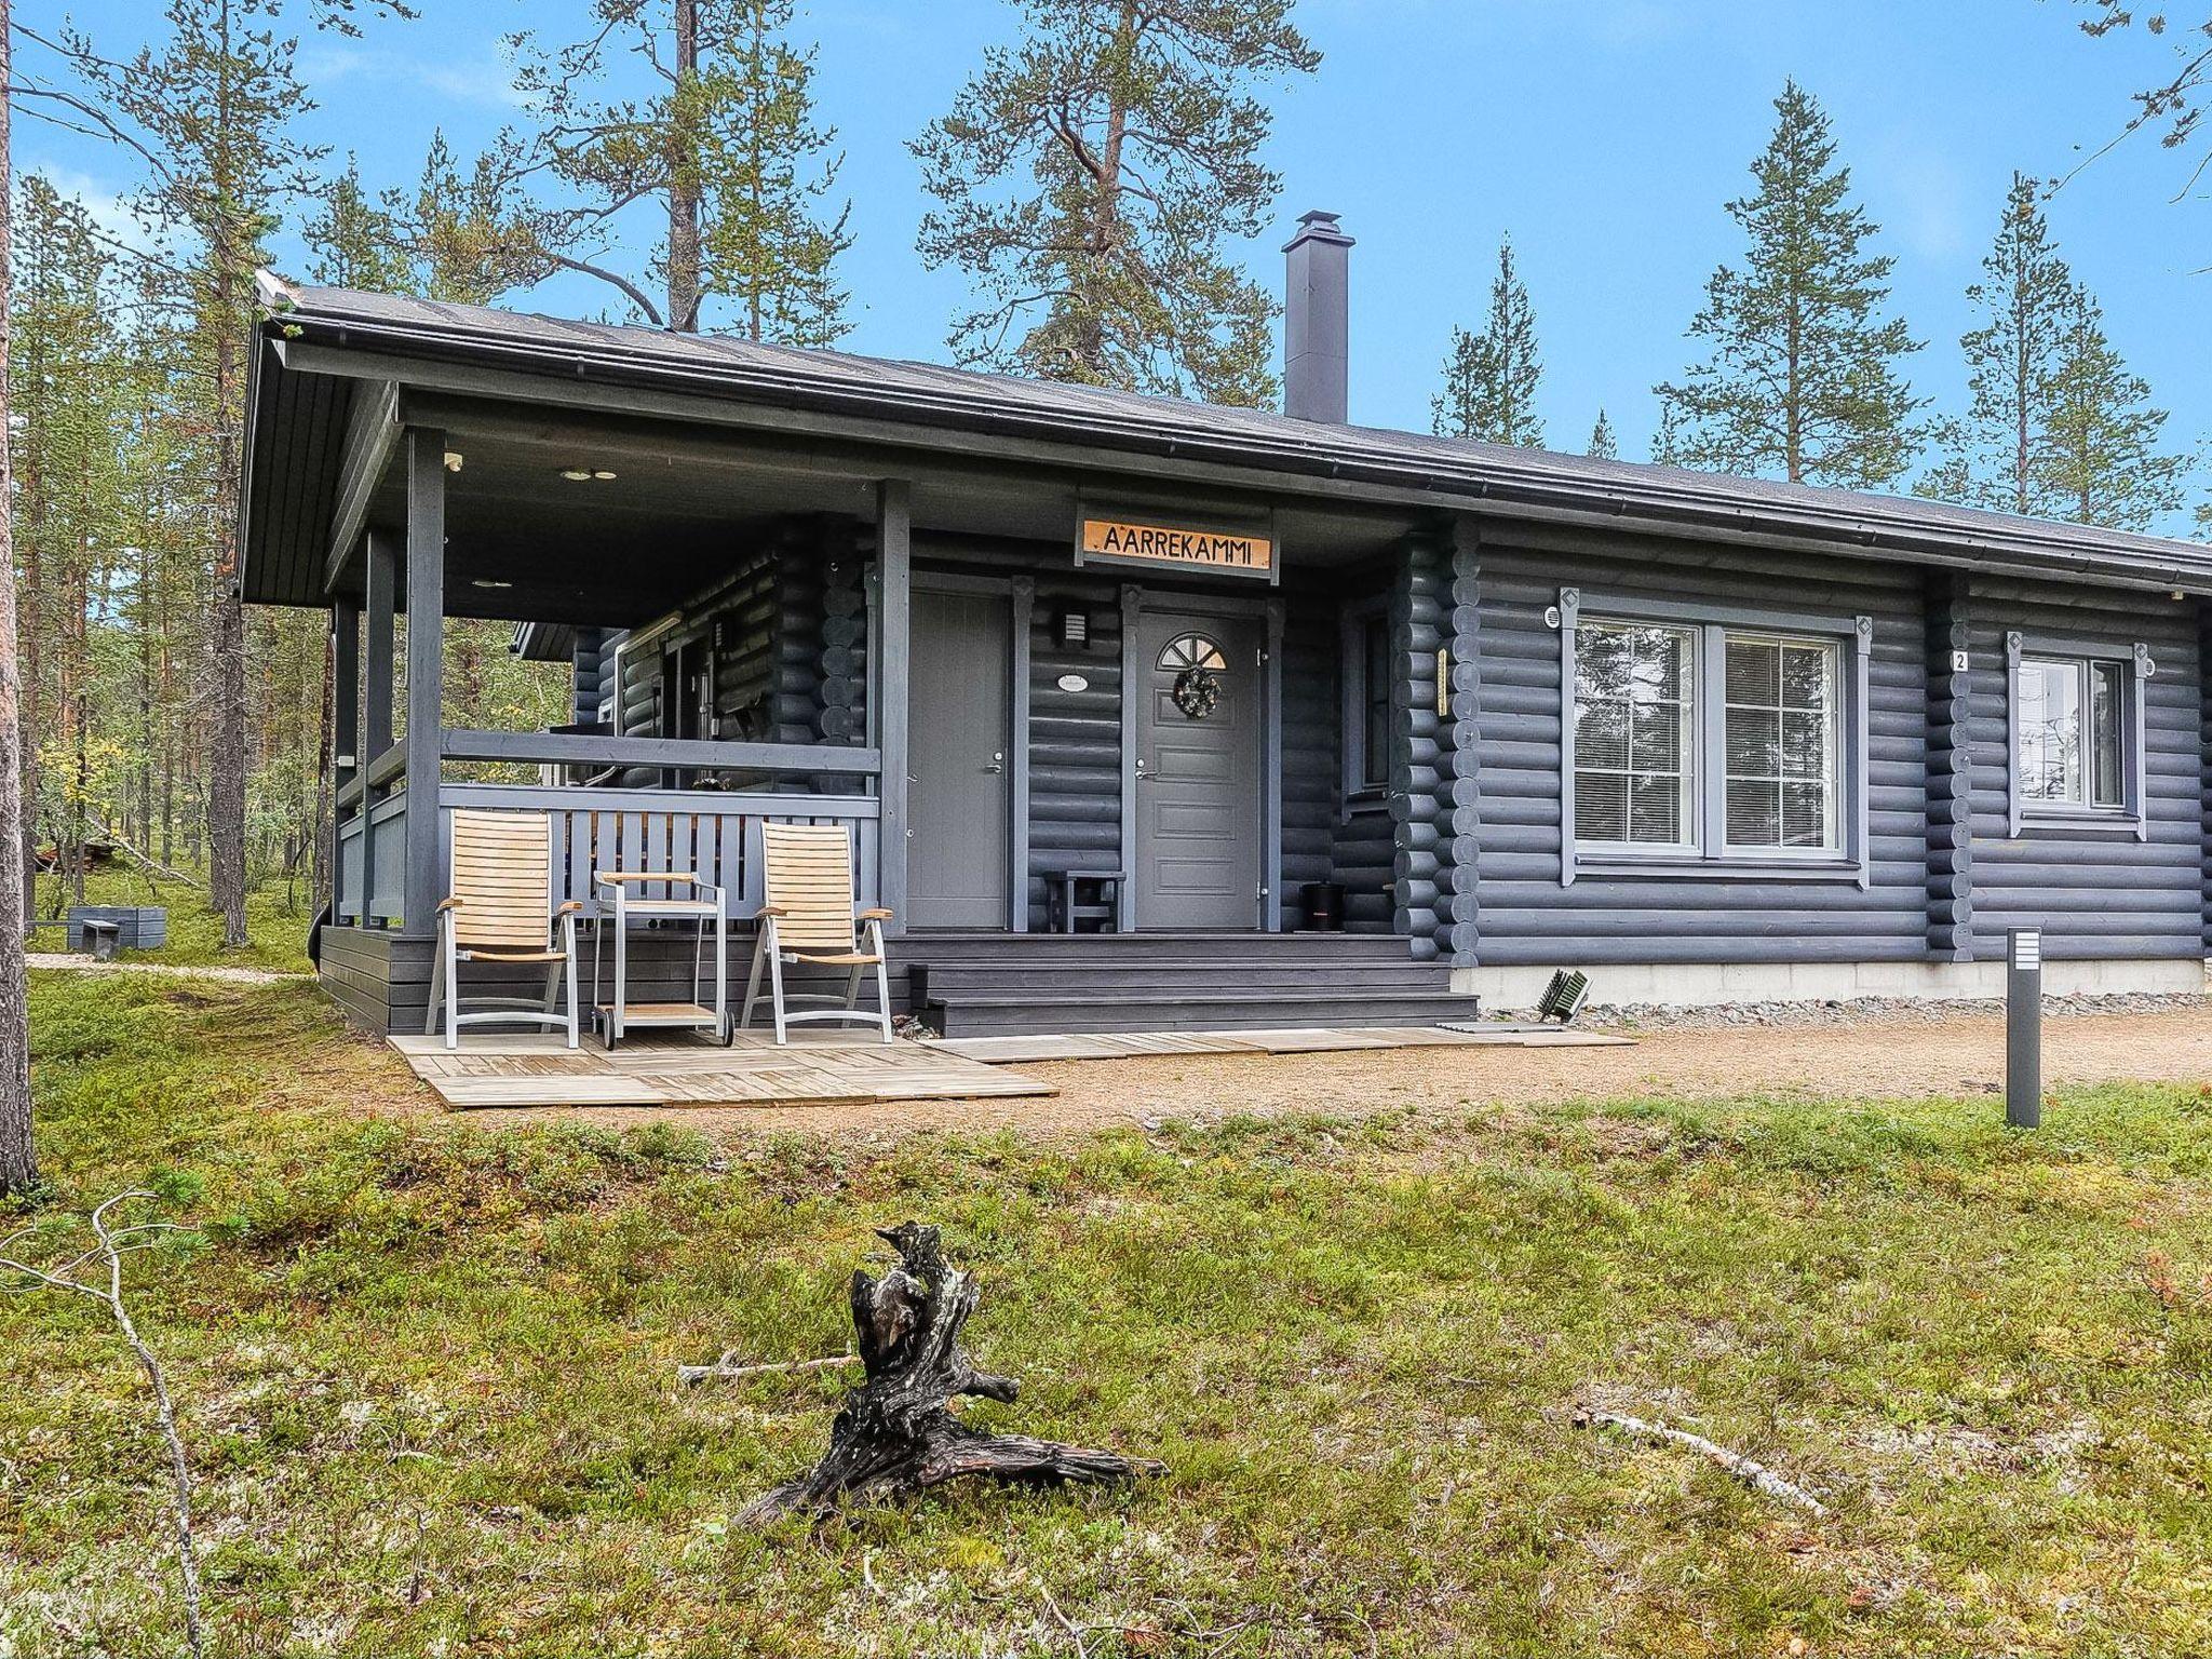
[[[1321,62],[1292,0],[1022,9],[1026,38],[909,146],[936,197],[922,259],[987,296],[953,325],[958,361],[1274,403],[1274,299],[1221,243],[1259,234],[1279,190],[1259,88]]]

